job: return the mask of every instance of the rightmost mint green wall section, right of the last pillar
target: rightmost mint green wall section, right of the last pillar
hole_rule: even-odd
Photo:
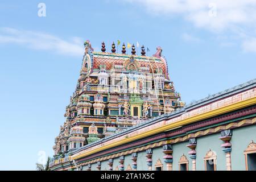
[[[232,143],[232,170],[245,170],[245,155],[243,155],[243,151],[246,150],[251,140],[256,141],[256,125],[233,130],[233,136],[230,140]]]

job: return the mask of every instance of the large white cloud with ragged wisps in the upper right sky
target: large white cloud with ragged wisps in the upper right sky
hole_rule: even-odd
[[[151,15],[179,15],[197,28],[204,28],[217,35],[234,35],[240,39],[245,51],[255,49],[256,0],[126,0],[126,2],[146,7]],[[251,39],[247,40],[248,36]],[[187,35],[181,37],[189,39]],[[237,38],[231,37],[228,40],[229,45],[232,41],[237,41]]]

